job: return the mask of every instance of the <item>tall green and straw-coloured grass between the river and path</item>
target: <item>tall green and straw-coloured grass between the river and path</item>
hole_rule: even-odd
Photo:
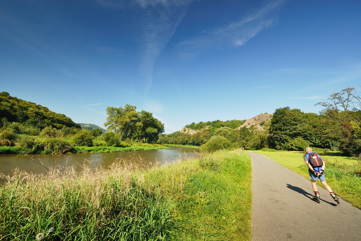
[[[150,169],[23,173],[0,198],[2,240],[251,240],[251,160],[240,150]]]

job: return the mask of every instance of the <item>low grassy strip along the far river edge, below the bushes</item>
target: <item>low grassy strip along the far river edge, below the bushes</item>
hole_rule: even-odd
[[[101,152],[121,152],[121,151],[140,151],[140,150],[159,150],[167,149],[165,145],[149,144],[149,143],[133,143],[132,146],[127,147],[113,147],[113,146],[73,146],[66,153],[101,153]],[[48,151],[34,151],[31,149],[19,149],[16,146],[0,146],[0,154],[49,154]]]

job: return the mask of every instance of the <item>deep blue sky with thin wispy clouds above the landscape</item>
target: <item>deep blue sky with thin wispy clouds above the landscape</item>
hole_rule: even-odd
[[[0,91],[102,126],[107,106],[191,122],[304,112],[361,85],[361,1],[0,2]]]

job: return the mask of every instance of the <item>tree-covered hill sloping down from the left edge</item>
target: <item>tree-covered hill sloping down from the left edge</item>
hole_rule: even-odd
[[[55,113],[47,107],[10,96],[5,91],[0,92],[0,126],[6,120],[2,120],[3,118],[10,122],[26,123],[40,129],[49,125],[57,129],[64,126],[80,128],[79,124],[64,114]]]

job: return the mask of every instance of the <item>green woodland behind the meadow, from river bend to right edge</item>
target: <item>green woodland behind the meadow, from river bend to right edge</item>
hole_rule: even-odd
[[[276,150],[304,150],[305,147],[311,146],[339,150],[347,155],[359,154],[360,92],[354,88],[347,88],[332,93],[316,105],[323,107],[318,114],[304,113],[300,109],[290,107],[278,108],[270,121],[261,123],[263,130],[255,126],[237,128],[244,123],[240,120],[217,120],[198,124],[193,122],[185,127],[199,130],[196,134],[174,132],[160,135],[157,143],[203,145],[203,148],[218,143],[221,147]]]

